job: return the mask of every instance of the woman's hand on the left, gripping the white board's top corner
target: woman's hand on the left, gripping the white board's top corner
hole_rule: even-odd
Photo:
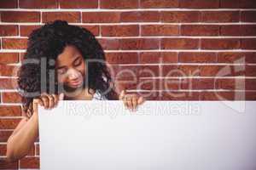
[[[44,106],[44,109],[52,109],[58,104],[58,101],[62,99],[64,99],[64,94],[43,93],[39,98],[33,99],[33,111],[38,112],[38,105]]]

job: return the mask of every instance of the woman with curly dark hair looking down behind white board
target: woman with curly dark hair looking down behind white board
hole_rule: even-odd
[[[9,137],[9,161],[26,156],[38,139],[38,105],[52,109],[60,99],[122,99],[133,110],[143,103],[136,94],[114,91],[102,47],[90,31],[55,20],[28,40],[18,72],[24,118]]]

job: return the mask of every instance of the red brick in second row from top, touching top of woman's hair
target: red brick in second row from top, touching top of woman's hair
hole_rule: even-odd
[[[43,12],[43,22],[49,22],[53,20],[67,20],[67,22],[81,22],[79,12]]]

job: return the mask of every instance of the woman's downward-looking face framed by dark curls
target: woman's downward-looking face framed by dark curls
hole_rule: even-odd
[[[73,89],[83,85],[86,68],[84,58],[78,48],[66,46],[58,55],[55,68],[58,82]]]

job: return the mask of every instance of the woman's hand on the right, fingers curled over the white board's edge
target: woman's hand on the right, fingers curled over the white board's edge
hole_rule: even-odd
[[[125,90],[119,95],[119,100],[123,100],[125,108],[131,111],[136,111],[137,105],[142,105],[145,99],[143,96],[138,96],[137,94],[126,94]]]

